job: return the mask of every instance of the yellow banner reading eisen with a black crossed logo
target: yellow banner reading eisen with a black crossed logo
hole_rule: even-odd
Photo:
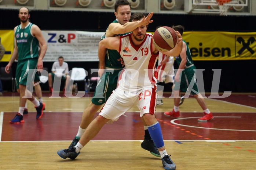
[[[183,33],[193,60],[246,60],[256,59],[256,32]]]

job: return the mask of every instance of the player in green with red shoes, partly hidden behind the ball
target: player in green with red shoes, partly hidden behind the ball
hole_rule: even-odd
[[[173,26],[174,30],[179,31],[180,34],[183,34],[184,27],[181,25]],[[175,57],[176,62],[179,65],[179,69],[175,75],[175,86],[173,88],[174,93],[174,107],[172,111],[170,112],[164,112],[166,116],[172,116],[172,117],[179,117],[180,111],[179,111],[179,103],[180,103],[180,97],[179,93],[180,90],[187,89],[189,85],[193,84],[193,87],[189,87],[189,90],[191,90],[191,94],[196,98],[198,104],[201,106],[201,108],[204,110],[204,116],[198,119],[198,121],[209,121],[213,119],[212,113],[209,111],[204,97],[202,97],[202,94],[198,90],[197,82],[196,82],[196,67],[194,66],[194,62],[191,57],[190,49],[187,43],[183,40],[183,47],[182,51],[180,52],[180,55]],[[177,83],[180,82],[180,83]]]

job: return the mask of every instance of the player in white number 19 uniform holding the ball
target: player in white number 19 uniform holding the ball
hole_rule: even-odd
[[[134,13],[130,21],[138,21],[144,13]],[[117,50],[123,58],[125,68],[121,73],[118,87],[113,91],[99,115],[89,124],[81,139],[73,148],[59,150],[58,155],[63,158],[75,159],[80,150],[94,138],[104,124],[116,121],[134,105],[140,109],[140,116],[146,122],[149,134],[161,155],[164,169],[176,169],[175,163],[165,150],[161,127],[155,117],[156,109],[156,62],[158,51],[153,45],[152,34],[146,33],[147,26],[140,26],[124,36],[109,37],[99,43],[98,55],[103,56],[106,49]],[[163,52],[170,56],[177,56],[182,50],[182,36],[178,34],[175,48]]]

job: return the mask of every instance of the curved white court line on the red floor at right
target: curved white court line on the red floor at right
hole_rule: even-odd
[[[229,117],[229,118],[241,118],[241,116],[214,116],[214,118],[216,117]],[[175,123],[175,120],[181,120],[181,119],[195,119],[195,118],[200,118],[200,117],[184,117],[184,118],[179,118],[179,119],[173,119],[171,120],[172,124],[176,124],[176,125],[180,125],[180,126],[186,126],[186,127],[193,127],[193,128],[201,128],[201,129],[212,129],[212,130],[222,130],[222,131],[244,131],[244,132],[256,132],[256,130],[236,130],[236,129],[218,129],[218,128],[206,128],[206,127],[197,127],[197,126],[190,126],[190,125],[183,125],[183,124],[178,124]],[[204,123],[204,122],[200,122],[200,123]]]

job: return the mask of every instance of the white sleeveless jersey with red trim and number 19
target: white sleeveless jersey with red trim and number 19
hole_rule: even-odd
[[[138,91],[156,88],[157,54],[152,51],[152,34],[146,33],[139,46],[132,44],[132,33],[120,37],[119,53],[124,60],[125,68],[118,82],[118,89]]]

